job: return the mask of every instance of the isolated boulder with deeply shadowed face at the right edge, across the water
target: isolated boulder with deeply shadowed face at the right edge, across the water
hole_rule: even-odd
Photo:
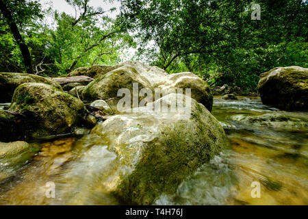
[[[262,103],[281,110],[308,109],[308,68],[278,67],[260,75]]]

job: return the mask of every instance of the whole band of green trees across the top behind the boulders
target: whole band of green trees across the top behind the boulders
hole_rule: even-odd
[[[39,1],[0,0],[0,71],[62,75],[116,64],[135,45],[136,59],[216,85],[255,89],[270,68],[308,66],[307,1],[260,0],[253,20],[248,0],[121,0],[116,21],[106,1],[66,0],[73,16]]]

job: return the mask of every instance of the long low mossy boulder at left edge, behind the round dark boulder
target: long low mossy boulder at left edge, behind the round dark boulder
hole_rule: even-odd
[[[14,90],[22,83],[27,82],[46,83],[62,90],[59,83],[46,77],[26,73],[0,73],[0,102],[10,102]]]

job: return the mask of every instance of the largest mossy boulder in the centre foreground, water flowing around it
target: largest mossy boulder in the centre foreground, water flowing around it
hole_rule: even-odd
[[[176,96],[168,94],[155,103],[170,105]],[[174,194],[186,177],[217,155],[226,144],[224,130],[202,104],[190,100],[189,117],[142,107],[139,113],[112,116],[94,127],[87,138],[116,155],[110,177],[100,185],[108,185],[125,204],[151,205],[163,194]]]

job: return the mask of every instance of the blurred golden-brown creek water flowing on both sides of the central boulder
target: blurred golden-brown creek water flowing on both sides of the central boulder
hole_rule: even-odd
[[[5,107],[5,106],[4,106]],[[3,105],[0,106],[3,108]],[[283,112],[259,98],[216,97],[212,114],[229,146],[156,205],[308,205],[308,113]],[[285,115],[290,120],[254,120]],[[258,117],[257,117],[258,118]],[[40,142],[42,149],[14,177],[0,183],[2,205],[118,205],[116,154],[97,138]],[[55,183],[55,198],[46,196]],[[253,198],[253,182],[260,197]]]

